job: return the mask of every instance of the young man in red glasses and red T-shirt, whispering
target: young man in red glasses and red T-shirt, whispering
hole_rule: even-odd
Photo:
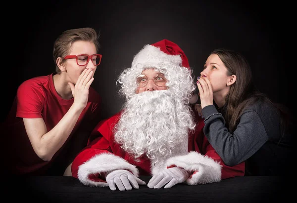
[[[2,123],[5,169],[14,175],[63,175],[98,123],[100,96],[90,85],[100,64],[92,28],[54,42],[55,71],[24,81]],[[66,172],[66,171],[65,171]]]

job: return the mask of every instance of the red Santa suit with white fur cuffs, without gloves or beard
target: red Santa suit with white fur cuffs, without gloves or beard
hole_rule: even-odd
[[[185,155],[171,156],[164,162],[152,164],[146,155],[137,162],[121,146],[114,142],[113,127],[119,121],[121,113],[99,122],[93,130],[89,145],[81,151],[72,163],[72,175],[83,184],[90,186],[108,186],[101,174],[115,169],[126,169],[135,176],[156,175],[162,168],[179,166],[192,175],[186,180],[189,185],[218,182],[222,179],[243,176],[245,163],[233,167],[227,166],[215,152],[203,134],[204,122],[198,119],[195,132],[189,133],[189,139],[183,142],[188,149]],[[181,148],[172,154],[180,154]]]

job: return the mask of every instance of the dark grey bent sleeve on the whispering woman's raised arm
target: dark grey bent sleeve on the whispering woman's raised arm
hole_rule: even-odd
[[[204,134],[226,165],[246,161],[268,140],[263,123],[251,109],[243,113],[233,134],[225,127],[224,117],[214,105],[204,107],[202,114]]]

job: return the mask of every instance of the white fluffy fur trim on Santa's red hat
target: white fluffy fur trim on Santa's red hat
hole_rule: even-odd
[[[136,68],[137,64],[143,65],[143,68],[149,68],[149,66],[154,67],[159,63],[173,63],[180,66],[182,58],[180,55],[166,54],[159,47],[147,44],[134,56],[132,68]]]

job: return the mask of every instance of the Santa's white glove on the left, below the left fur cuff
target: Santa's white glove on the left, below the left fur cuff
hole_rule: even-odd
[[[123,169],[114,170],[108,173],[106,176],[106,182],[108,183],[110,190],[116,190],[115,185],[117,185],[120,191],[132,190],[132,186],[133,188],[138,189],[138,184],[146,184],[145,181],[139,179],[128,170]]]

